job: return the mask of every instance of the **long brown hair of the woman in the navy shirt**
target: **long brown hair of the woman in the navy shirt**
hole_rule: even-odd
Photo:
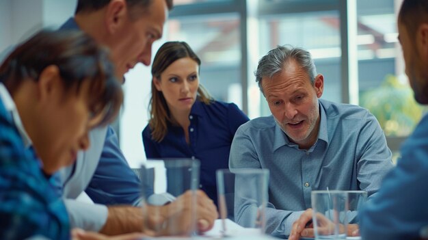
[[[152,97],[149,103],[150,120],[148,124],[152,131],[152,139],[157,142],[161,142],[163,137],[165,137],[168,132],[167,124],[168,122],[172,122],[172,117],[170,116],[170,109],[168,109],[163,93],[156,89],[153,81],[161,80],[162,72],[173,62],[184,57],[190,57],[200,66],[198,55],[191,50],[189,44],[186,42],[165,42],[157,51],[153,60]],[[213,101],[213,98],[211,98],[202,85],[199,85],[198,88],[198,99],[205,104]]]

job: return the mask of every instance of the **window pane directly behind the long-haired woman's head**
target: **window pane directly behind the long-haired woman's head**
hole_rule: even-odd
[[[200,83],[219,101],[241,103],[239,14],[180,16],[168,21],[168,40],[187,42],[201,59]]]

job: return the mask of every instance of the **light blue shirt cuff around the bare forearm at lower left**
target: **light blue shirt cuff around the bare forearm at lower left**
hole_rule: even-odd
[[[107,221],[109,210],[107,206],[65,199],[71,228],[99,232]]]

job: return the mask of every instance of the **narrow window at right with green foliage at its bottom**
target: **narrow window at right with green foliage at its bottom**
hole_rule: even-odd
[[[423,114],[405,76],[394,1],[358,2],[360,105],[369,109],[389,137],[412,133]],[[392,138],[390,138],[392,139]]]

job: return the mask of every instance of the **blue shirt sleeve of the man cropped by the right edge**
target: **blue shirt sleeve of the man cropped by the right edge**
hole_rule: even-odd
[[[360,213],[362,239],[418,239],[428,226],[428,116],[401,148],[401,159]]]

